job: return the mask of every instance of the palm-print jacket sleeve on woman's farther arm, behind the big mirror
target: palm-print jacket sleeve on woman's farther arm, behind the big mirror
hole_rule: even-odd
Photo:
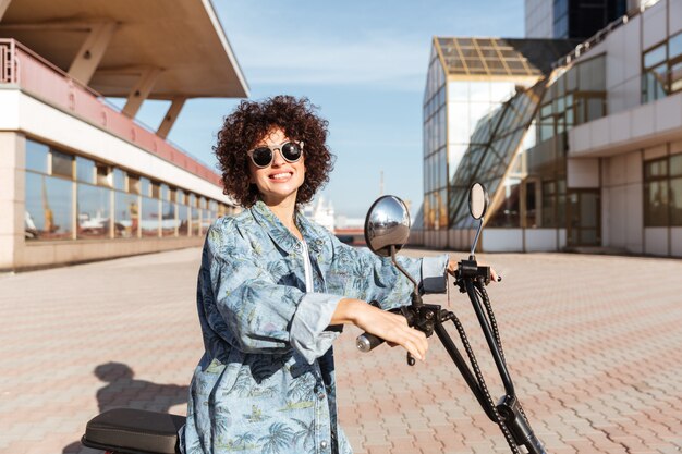
[[[332,234],[330,238],[333,254],[329,279],[343,282],[345,296],[376,300],[383,309],[411,304],[410,295],[414,285],[389,257],[379,257],[367,248],[343,244]],[[417,281],[419,294],[446,292],[447,255],[425,258],[401,256],[397,259]]]

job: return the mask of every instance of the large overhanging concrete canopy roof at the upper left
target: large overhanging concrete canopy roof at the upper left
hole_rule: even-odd
[[[107,97],[129,97],[150,71],[150,99],[248,96],[210,0],[10,0],[1,21],[0,37],[66,72],[99,39],[94,72],[76,78]]]

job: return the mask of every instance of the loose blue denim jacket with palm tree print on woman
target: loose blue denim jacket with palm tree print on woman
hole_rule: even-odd
[[[343,297],[390,308],[410,304],[412,289],[390,260],[340,243],[301,213],[296,224],[307,247],[258,201],[207,233],[197,285],[206,351],[180,430],[185,454],[352,452],[337,426],[331,343],[340,329],[329,321]],[[399,260],[444,291],[447,256]]]

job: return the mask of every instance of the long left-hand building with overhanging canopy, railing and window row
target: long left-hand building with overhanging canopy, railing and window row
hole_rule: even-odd
[[[0,270],[200,244],[236,207],[166,137],[185,100],[247,95],[209,0],[0,0]]]

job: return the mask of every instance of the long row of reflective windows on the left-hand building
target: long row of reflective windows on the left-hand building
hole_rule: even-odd
[[[229,211],[216,200],[32,139],[25,167],[28,241],[200,235]]]

